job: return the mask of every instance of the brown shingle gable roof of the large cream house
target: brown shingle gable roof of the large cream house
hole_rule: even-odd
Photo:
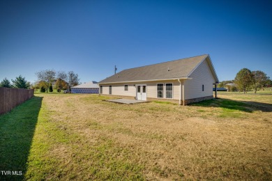
[[[202,63],[207,60],[213,77],[218,82],[216,71],[211,63],[211,58],[208,54],[202,56],[194,56],[183,58],[176,61],[167,61],[153,65],[146,65],[139,68],[130,68],[112,75],[98,84],[121,83],[133,81],[155,81],[161,79],[188,79],[190,74]]]

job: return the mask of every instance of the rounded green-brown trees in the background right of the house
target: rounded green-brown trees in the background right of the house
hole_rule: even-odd
[[[247,93],[247,91],[257,91],[272,86],[272,80],[266,73],[261,70],[251,71],[248,68],[243,68],[237,72],[236,77],[232,81],[222,81],[218,87],[225,87],[228,91],[240,91]]]

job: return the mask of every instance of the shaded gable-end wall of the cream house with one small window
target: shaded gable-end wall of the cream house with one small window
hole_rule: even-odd
[[[213,74],[206,60],[192,72],[190,77],[192,79],[184,81],[185,100],[213,95],[213,83],[215,83],[216,80],[213,78]],[[204,85],[204,91],[202,91],[202,85]]]

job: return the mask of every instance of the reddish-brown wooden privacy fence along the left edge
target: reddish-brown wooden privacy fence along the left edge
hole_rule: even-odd
[[[34,95],[33,89],[0,87],[0,115],[29,100]]]

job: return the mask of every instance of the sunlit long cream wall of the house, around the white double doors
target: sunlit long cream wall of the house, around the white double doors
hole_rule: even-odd
[[[109,94],[109,86],[112,86],[112,95],[122,95],[122,96],[133,96],[136,97],[136,85],[146,84],[146,97],[147,98],[157,98],[157,84],[163,84],[163,98],[166,99],[166,86],[165,84],[173,84],[173,98],[167,100],[179,100],[179,81],[148,81],[148,82],[134,82],[130,84],[100,84],[103,86],[103,93],[105,95]],[[124,91],[124,86],[128,85],[128,91]]]

